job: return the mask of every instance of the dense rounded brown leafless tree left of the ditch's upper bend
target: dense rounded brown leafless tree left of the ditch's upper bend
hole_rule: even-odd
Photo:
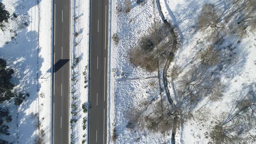
[[[167,24],[153,25],[149,34],[142,36],[140,43],[130,52],[130,61],[149,72],[156,71],[172,51],[173,36]]]

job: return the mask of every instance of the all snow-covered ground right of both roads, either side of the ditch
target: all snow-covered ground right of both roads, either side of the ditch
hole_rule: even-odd
[[[124,0],[112,0],[110,4],[110,37],[117,34],[119,42],[110,38],[110,74],[109,74],[109,101],[108,101],[108,143],[114,143],[113,134],[116,130],[115,143],[129,144],[156,144],[171,143],[171,132],[162,134],[150,130],[131,130],[127,128],[131,108],[140,107],[144,100],[160,97],[158,73],[146,72],[140,67],[133,66],[129,61],[129,52],[140,42],[140,38],[147,34],[148,28],[154,22],[160,22],[161,17],[157,0],[147,0],[144,5],[132,1],[131,11],[124,11]],[[175,95],[176,82],[188,73],[192,65],[190,61],[200,50],[200,46],[207,45],[204,34],[198,31],[198,16],[204,4],[212,0],[160,0],[162,12],[168,22],[176,26],[178,35],[182,38],[181,46],[170,64],[168,74],[173,66],[182,66],[183,72],[176,80],[168,77],[168,88],[171,95]],[[214,0],[213,3],[218,2]],[[122,12],[116,10],[122,5]],[[238,42],[238,40],[240,40]],[[230,45],[232,44],[232,46]],[[227,65],[220,73],[220,81],[226,85],[221,101],[207,105],[211,116],[199,119],[194,114],[177,128],[176,143],[206,144],[212,142],[209,132],[223,112],[229,112],[230,105],[238,98],[242,91],[247,92],[249,85],[256,82],[256,34],[248,33],[245,38],[226,38],[220,46],[227,49],[236,49],[234,62]],[[231,48],[230,48],[231,47]],[[231,50],[231,51],[232,51]],[[185,65],[188,64],[188,67]],[[155,88],[150,87],[150,81],[156,82]],[[172,82],[172,83],[171,83]],[[194,111],[206,104],[208,99],[200,101]],[[192,110],[193,111],[193,110]],[[132,113],[134,114],[134,113]],[[255,143],[256,128],[252,128],[247,136],[246,143]],[[254,137],[254,138],[253,138]]]

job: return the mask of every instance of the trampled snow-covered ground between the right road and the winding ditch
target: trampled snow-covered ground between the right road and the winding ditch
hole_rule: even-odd
[[[110,37],[116,33],[119,42],[116,44],[113,39],[110,39],[109,46],[108,143],[113,143],[111,137],[115,126],[118,135],[116,143],[148,142],[155,144],[163,142],[165,138],[161,134],[152,137],[148,135],[148,132],[128,130],[126,128],[128,120],[125,116],[128,107],[135,106],[142,98],[149,99],[149,95],[146,93],[150,91],[147,88],[148,80],[153,79],[156,83],[158,82],[157,72],[148,73],[142,68],[132,66],[128,60],[129,51],[138,44],[141,36],[147,33],[154,19],[159,21],[160,15],[157,12],[156,2],[150,0],[142,6],[132,1],[132,9],[128,14],[124,10],[117,12],[116,4],[118,2],[124,9],[122,0],[112,0],[110,4]],[[136,141],[137,138],[140,140]]]

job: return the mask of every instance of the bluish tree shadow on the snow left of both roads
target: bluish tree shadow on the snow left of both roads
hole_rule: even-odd
[[[32,7],[38,5],[41,0],[19,0],[16,3],[16,10],[14,13],[19,15],[28,15],[29,10]],[[37,137],[36,124],[38,124],[37,118],[32,118],[32,114],[38,112],[38,90],[40,89],[40,83],[38,83],[38,76],[42,74],[40,68],[44,61],[39,56],[40,48],[38,45],[38,32],[32,30],[33,27],[30,25],[31,20],[34,20],[37,11],[31,13],[30,20],[25,20],[28,27],[24,27],[22,30],[17,32],[17,36],[13,38],[8,44],[5,44],[0,48],[0,57],[4,58],[10,66],[14,69],[12,82],[16,86],[14,90],[16,92],[22,92],[24,94],[29,93],[30,96],[26,96],[24,102],[18,106],[18,119],[17,111],[13,104],[12,111],[12,122],[9,125],[10,136],[6,136],[7,140],[16,141],[18,136],[18,143],[21,144],[32,144]],[[37,24],[35,23],[35,25]],[[36,27],[37,28],[37,27]],[[12,101],[12,100],[11,100]],[[16,114],[15,114],[16,113]],[[16,123],[18,123],[18,135],[16,132]],[[15,128],[13,128],[15,127]],[[13,130],[13,131],[12,131]]]

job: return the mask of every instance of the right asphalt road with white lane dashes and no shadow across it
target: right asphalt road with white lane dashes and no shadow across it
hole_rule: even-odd
[[[91,0],[89,144],[106,144],[108,0]]]

